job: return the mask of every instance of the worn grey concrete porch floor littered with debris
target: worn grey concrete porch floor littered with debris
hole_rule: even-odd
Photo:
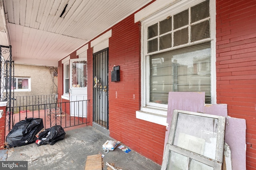
[[[38,147],[32,143],[2,150],[1,160],[28,161],[28,170],[84,170],[88,155],[102,153],[105,155],[102,158],[102,170],[107,170],[106,162],[113,163],[122,170],[161,169],[160,165],[133,150],[126,153],[116,148],[104,153],[102,145],[113,139],[94,127],[81,127],[65,132],[65,138],[54,145]]]

